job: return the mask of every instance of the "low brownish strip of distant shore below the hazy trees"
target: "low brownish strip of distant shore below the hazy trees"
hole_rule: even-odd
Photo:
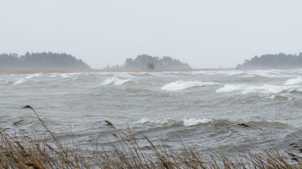
[[[63,69],[51,69],[51,70],[0,70],[0,75],[2,74],[33,74],[33,73],[97,73],[97,72],[190,72],[190,71],[210,71],[210,70],[235,70],[234,68],[229,69],[73,69],[73,70],[63,70]]]

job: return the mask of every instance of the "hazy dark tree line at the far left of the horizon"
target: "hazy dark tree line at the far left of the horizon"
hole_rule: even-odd
[[[81,59],[66,53],[0,54],[0,69],[90,69]]]

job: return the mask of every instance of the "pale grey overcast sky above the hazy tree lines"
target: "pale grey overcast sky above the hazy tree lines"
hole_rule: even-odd
[[[0,2],[0,53],[65,52],[92,68],[140,54],[193,68],[302,52],[302,1]]]

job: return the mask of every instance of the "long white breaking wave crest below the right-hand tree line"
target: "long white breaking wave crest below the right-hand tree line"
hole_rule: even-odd
[[[236,84],[230,85],[225,84],[223,87],[216,90],[216,93],[228,93],[233,91],[241,91],[241,94],[249,94],[249,93],[281,93],[281,92],[292,92],[292,91],[301,91],[301,86],[277,86],[277,85],[263,85],[263,86],[252,86],[252,85],[243,85]]]

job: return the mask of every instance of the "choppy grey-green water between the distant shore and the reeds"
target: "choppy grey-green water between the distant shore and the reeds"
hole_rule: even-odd
[[[89,152],[99,142],[118,145],[112,133],[134,129],[138,142],[165,141],[174,148],[215,148],[236,154],[270,145],[302,143],[302,70],[0,75],[0,126],[12,121],[44,133],[33,106],[67,145]],[[105,125],[111,121],[116,130]],[[47,137],[47,134],[46,134]]]

